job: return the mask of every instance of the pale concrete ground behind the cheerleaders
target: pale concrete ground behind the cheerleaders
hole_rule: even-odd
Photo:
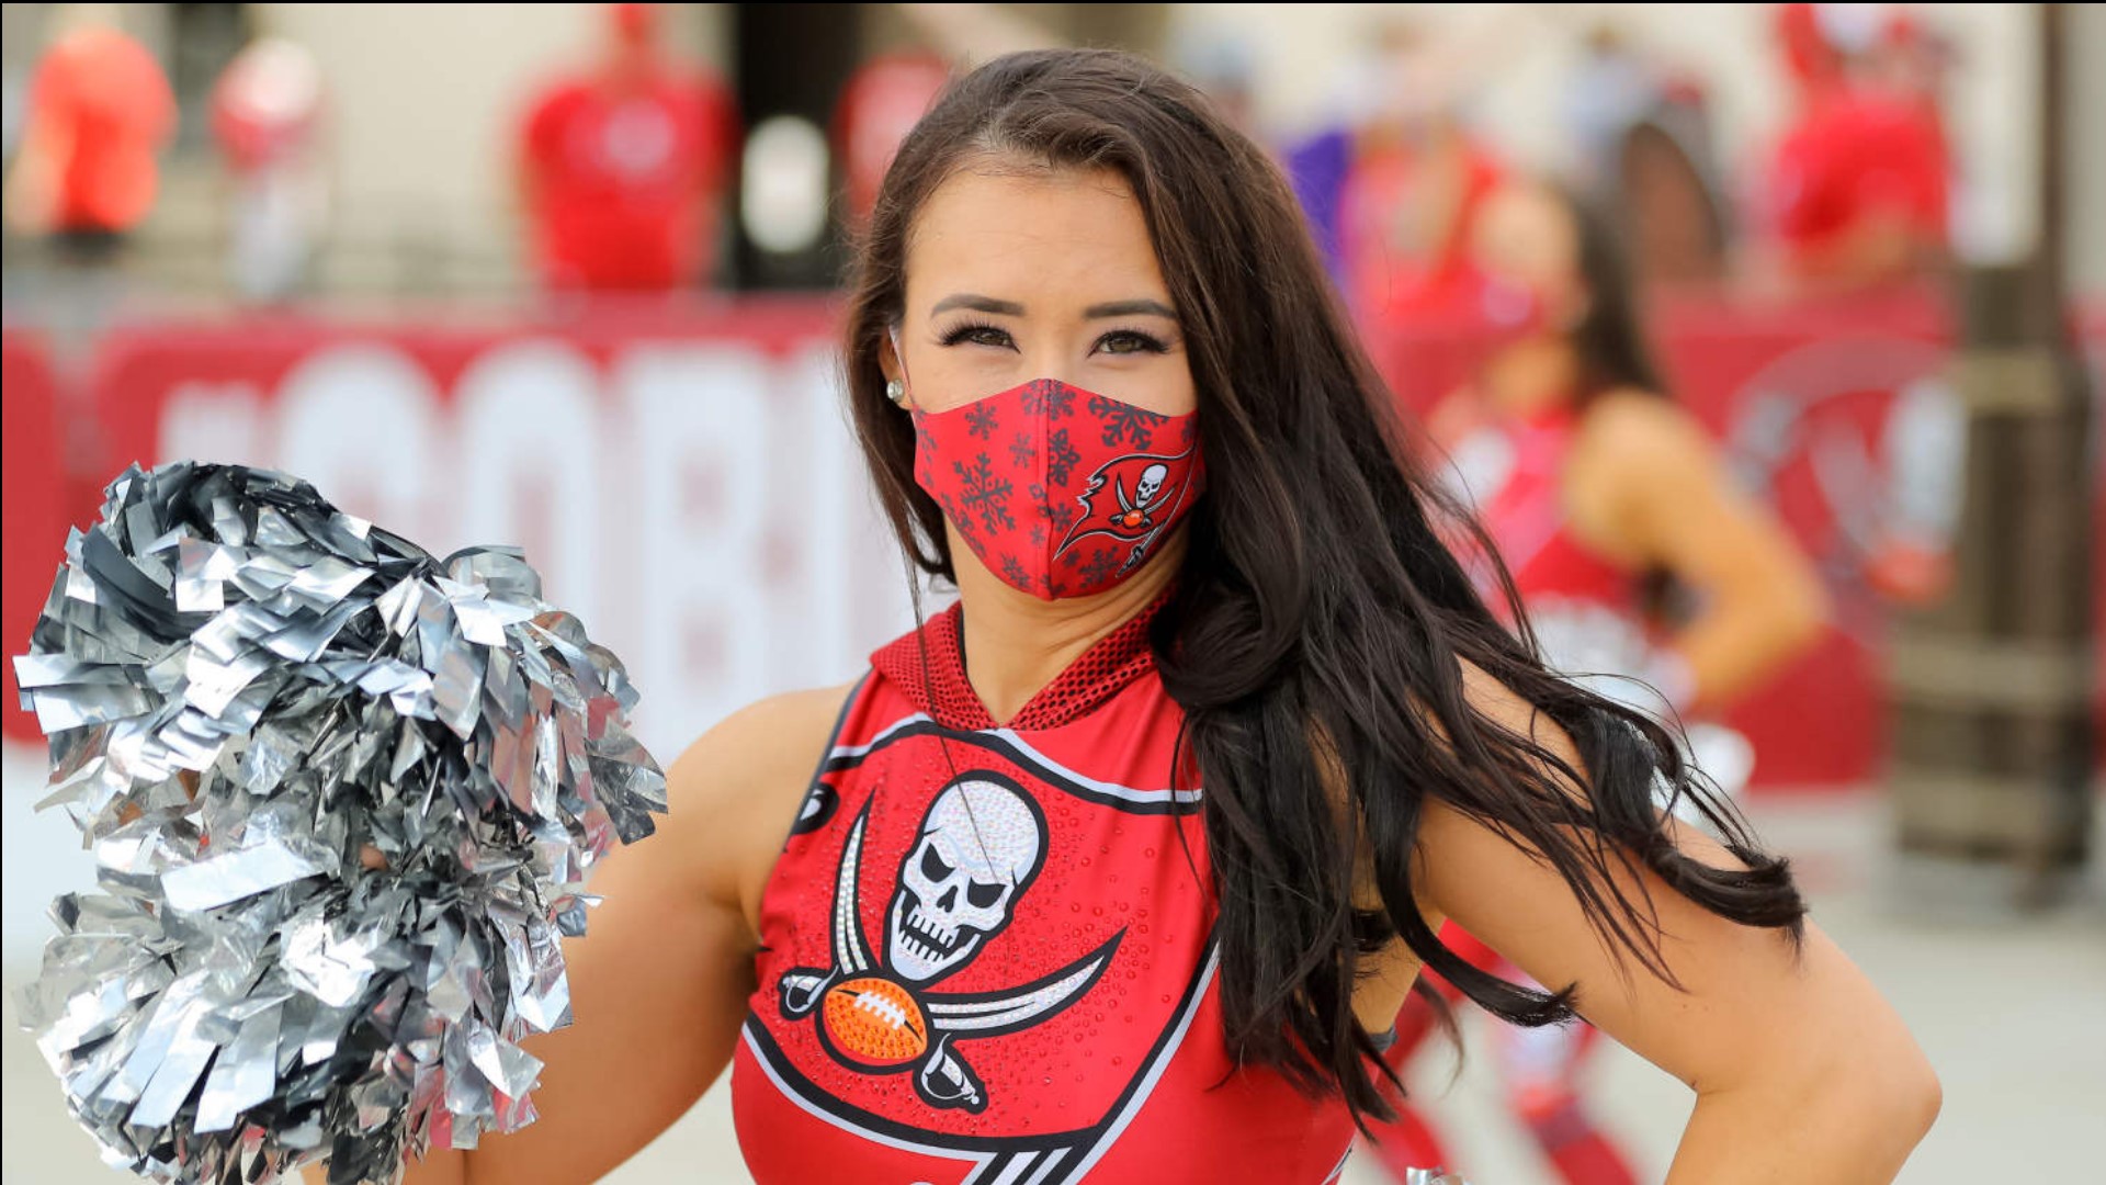
[[[1902,1181],[2100,1181],[2106,871],[2077,886],[2064,907],[2020,915],[1996,905],[2005,886],[1992,875],[1898,867],[1887,850],[1879,795],[1769,799],[1759,801],[1752,814],[1765,839],[1799,860],[1820,924],[1893,999],[1942,1073],[1944,1115]],[[19,917],[19,911],[8,909],[8,917]],[[11,959],[8,966],[8,997],[29,970],[17,964]],[[13,1002],[0,1052],[4,1181],[126,1181],[101,1168],[88,1139],[67,1122],[55,1080],[32,1042],[15,1029]],[[1451,1090],[1445,1090],[1449,1058],[1428,1056],[1426,1063],[1417,1071],[1419,1099],[1430,1101],[1459,1168],[1474,1185],[1554,1185],[1497,1109],[1487,1056],[1468,1058]],[[1660,1181],[1689,1115],[1689,1092],[1613,1046],[1601,1050],[1592,1071],[1603,1124],[1624,1139],[1643,1177]],[[1163,1185],[1173,1179],[1167,1172]],[[714,1090],[607,1181],[748,1183],[727,1092]],[[1379,1185],[1382,1179],[1363,1162],[1348,1170],[1346,1181]]]

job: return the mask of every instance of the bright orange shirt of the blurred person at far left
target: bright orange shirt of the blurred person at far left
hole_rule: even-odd
[[[32,150],[55,156],[51,230],[131,230],[154,207],[175,95],[139,42],[88,27],[53,44],[29,84],[29,118]]]

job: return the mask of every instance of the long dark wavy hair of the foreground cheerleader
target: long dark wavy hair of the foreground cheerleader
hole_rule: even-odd
[[[1205,784],[1238,1061],[1344,1094],[1356,1122],[1392,1118],[1352,989],[1365,955],[1398,934],[1508,1021],[1573,1014],[1571,987],[1506,983],[1434,936],[1411,896],[1428,799],[1542,852],[1594,928],[1651,974],[1672,980],[1657,924],[1613,869],[1643,865],[1723,917],[1799,934],[1805,909],[1784,862],[1695,784],[1674,738],[1550,675],[1485,607],[1432,519],[1462,517],[1411,460],[1280,173],[1198,91],[1139,57],[994,59],[952,84],[885,177],[853,278],[847,386],[880,504],[916,565],[952,578],[943,517],[914,485],[914,430],[885,399],[878,352],[903,312],[916,213],[981,158],[1118,171],[1188,344],[1209,491],[1152,645],[1186,713],[1175,776]],[[1478,715],[1464,662],[1563,725],[1586,772]],[[1590,782],[1590,799],[1565,778]],[[1653,805],[1655,778],[1693,797],[1750,871],[1683,856]],[[1354,909],[1363,848],[1379,911]]]

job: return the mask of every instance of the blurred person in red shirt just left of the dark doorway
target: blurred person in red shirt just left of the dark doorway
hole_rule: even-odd
[[[588,72],[541,91],[518,192],[548,289],[665,291],[716,270],[737,112],[708,70],[659,44],[657,4],[609,4]]]

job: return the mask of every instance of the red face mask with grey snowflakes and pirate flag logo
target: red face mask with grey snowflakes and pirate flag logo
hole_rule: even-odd
[[[914,483],[1002,582],[1057,601],[1139,571],[1205,483],[1198,413],[1032,380],[914,409]]]

